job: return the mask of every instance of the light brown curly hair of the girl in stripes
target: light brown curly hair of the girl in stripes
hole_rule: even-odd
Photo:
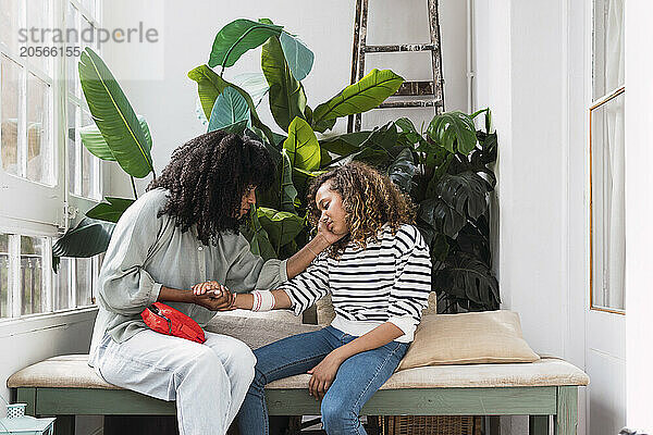
[[[317,227],[321,212],[316,194],[324,184],[343,198],[349,234],[329,248],[329,256],[338,257],[349,243],[366,248],[377,241],[381,227],[387,224],[392,233],[403,224],[415,223],[415,208],[410,198],[375,169],[352,162],[318,176],[308,188],[308,221]]]

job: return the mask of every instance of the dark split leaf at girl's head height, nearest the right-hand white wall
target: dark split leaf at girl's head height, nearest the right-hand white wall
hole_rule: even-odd
[[[459,214],[477,220],[488,210],[491,186],[473,172],[446,174],[435,187],[435,194]]]

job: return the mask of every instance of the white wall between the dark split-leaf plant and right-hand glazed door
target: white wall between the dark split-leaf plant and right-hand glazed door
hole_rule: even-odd
[[[584,368],[587,11],[569,0],[475,0],[473,11],[475,109],[492,109],[500,144],[502,307],[535,351]],[[580,403],[586,433],[582,389]]]

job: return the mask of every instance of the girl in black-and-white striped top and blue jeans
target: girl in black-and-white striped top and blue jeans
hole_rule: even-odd
[[[365,434],[360,409],[395,371],[428,304],[429,249],[390,178],[350,163],[318,177],[308,196],[311,223],[344,237],[279,289],[237,295],[234,304],[298,315],[331,293],[336,316],[323,330],[255,350],[242,434],[268,434],[266,384],[299,373],[312,375],[309,393],[322,399],[328,434]]]

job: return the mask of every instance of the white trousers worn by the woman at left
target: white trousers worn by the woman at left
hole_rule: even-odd
[[[143,331],[123,343],[104,336],[91,363],[108,383],[176,400],[181,435],[224,435],[254,378],[243,341],[206,333],[204,345]]]

